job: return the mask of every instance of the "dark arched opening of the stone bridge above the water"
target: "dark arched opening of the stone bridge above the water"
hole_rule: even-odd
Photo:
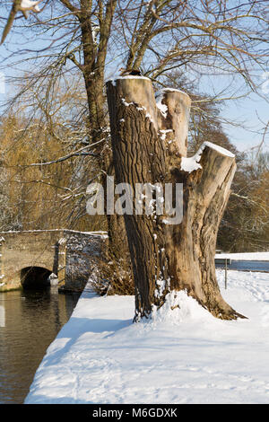
[[[45,289],[50,285],[49,276],[52,274],[48,268],[43,267],[24,267],[21,269],[22,288]]]

